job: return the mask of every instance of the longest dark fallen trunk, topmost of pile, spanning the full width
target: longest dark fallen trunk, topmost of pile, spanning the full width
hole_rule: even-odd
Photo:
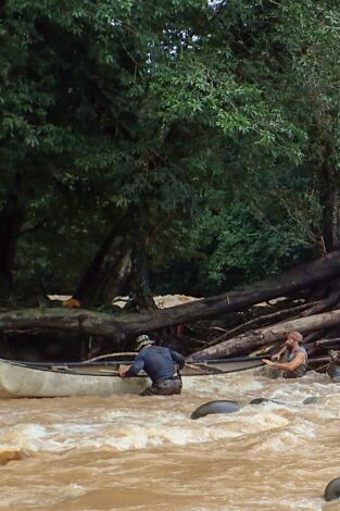
[[[339,251],[331,252],[279,277],[263,281],[249,289],[226,292],[140,314],[109,315],[88,310],[27,309],[0,314],[0,332],[4,331],[64,331],[97,334],[116,340],[165,326],[190,323],[222,312],[240,311],[272,298],[292,295],[340,275]]]

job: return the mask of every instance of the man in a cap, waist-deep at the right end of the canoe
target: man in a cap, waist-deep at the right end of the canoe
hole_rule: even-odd
[[[287,336],[285,347],[276,354],[273,360],[279,360],[284,354],[288,354],[287,362],[274,362],[273,360],[263,359],[267,365],[284,371],[285,378],[300,378],[306,372],[308,358],[306,350],[302,346],[303,337],[300,332],[290,332]]]

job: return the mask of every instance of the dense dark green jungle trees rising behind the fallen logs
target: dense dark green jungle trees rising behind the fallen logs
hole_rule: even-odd
[[[339,247],[340,4],[5,0],[0,288],[209,296]]]

